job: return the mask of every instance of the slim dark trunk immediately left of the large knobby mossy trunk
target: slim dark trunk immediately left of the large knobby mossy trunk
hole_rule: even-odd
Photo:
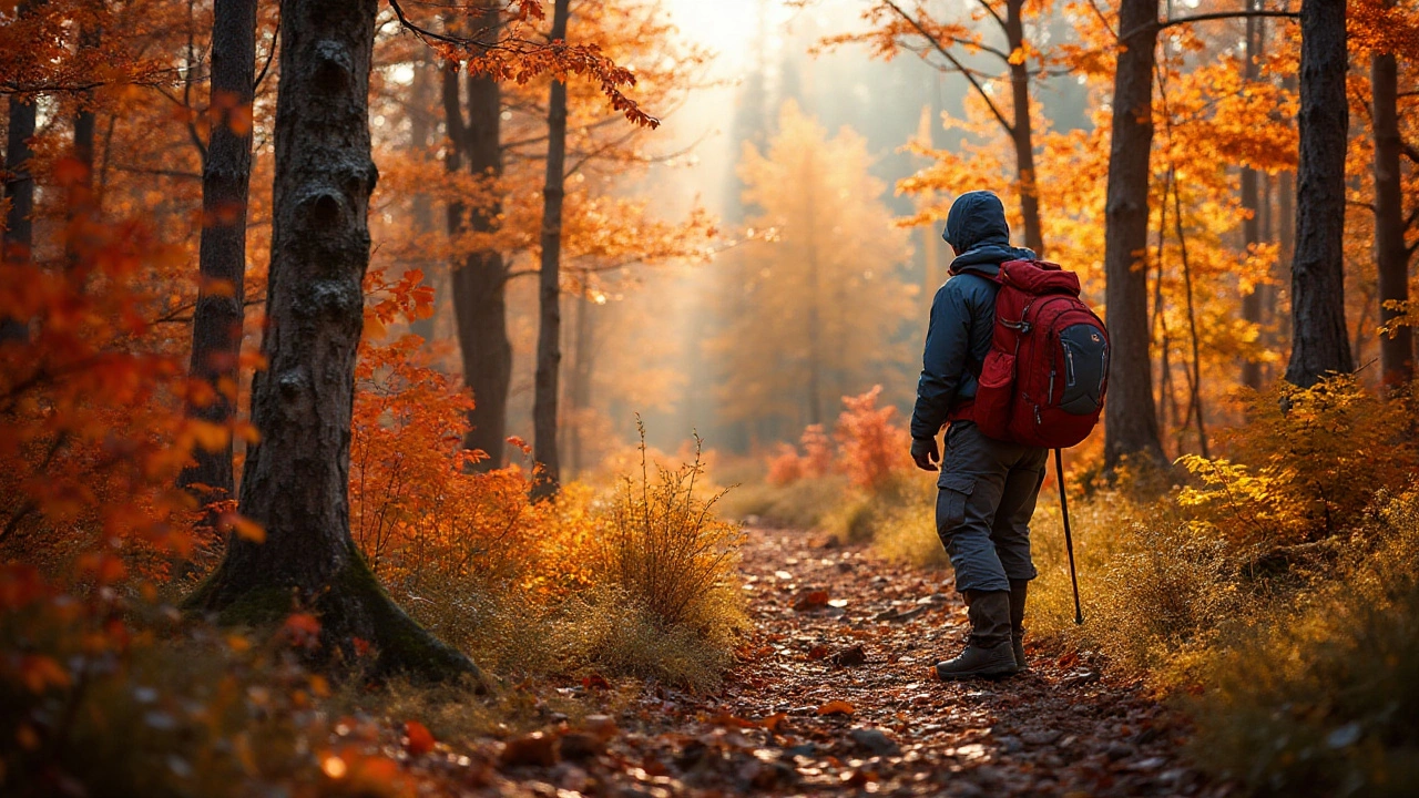
[[[228,425],[236,412],[247,273],[247,196],[251,183],[251,101],[255,91],[257,1],[216,0],[211,9],[211,138],[201,169],[201,244],[189,373],[207,382],[210,402],[187,415]],[[236,494],[231,439],[197,447],[179,484],[206,501]],[[203,487],[199,487],[203,486]]]

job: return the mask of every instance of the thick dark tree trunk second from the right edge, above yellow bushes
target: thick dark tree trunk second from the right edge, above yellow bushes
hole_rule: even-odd
[[[1345,331],[1345,0],[1301,4],[1300,163],[1291,261],[1291,361],[1286,379],[1310,388],[1349,373]]]

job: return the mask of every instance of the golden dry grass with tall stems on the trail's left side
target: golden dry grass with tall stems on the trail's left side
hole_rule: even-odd
[[[680,467],[653,467],[643,443],[640,457],[603,498],[565,491],[541,523],[551,554],[529,557],[518,578],[424,569],[417,591],[396,595],[505,680],[596,673],[712,689],[746,625],[734,578],[739,527],[717,517],[718,494],[701,490],[698,452]],[[575,582],[552,572],[559,562]]]

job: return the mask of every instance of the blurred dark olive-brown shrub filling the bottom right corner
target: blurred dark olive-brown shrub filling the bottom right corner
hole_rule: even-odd
[[[1266,795],[1419,791],[1419,493],[1381,498],[1365,537],[1216,657],[1200,763]]]

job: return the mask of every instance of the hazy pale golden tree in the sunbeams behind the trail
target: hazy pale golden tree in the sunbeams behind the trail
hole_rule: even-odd
[[[912,287],[895,275],[907,237],[868,166],[861,138],[829,138],[793,102],[763,152],[745,145],[744,203],[762,209],[748,223],[772,234],[735,253],[739,310],[712,344],[727,419],[796,436],[844,395],[905,382],[891,352],[905,354],[893,335],[912,312]]]

